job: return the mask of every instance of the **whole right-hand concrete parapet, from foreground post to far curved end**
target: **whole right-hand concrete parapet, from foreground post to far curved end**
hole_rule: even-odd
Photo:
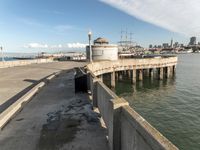
[[[92,93],[93,105],[98,107],[105,125],[108,129],[109,146],[111,150],[177,150],[178,148],[166,139],[159,131],[151,126],[143,117],[141,117],[128,102],[119,98],[103,82],[102,74],[112,73],[111,78],[115,78],[116,70],[135,70],[159,68],[159,78],[164,77],[163,67],[173,67],[177,64],[177,57],[159,58],[159,59],[132,59],[119,61],[94,62],[87,66],[89,72],[89,87]],[[161,71],[163,71],[161,73]],[[168,70],[168,69],[167,69]],[[139,71],[139,79],[143,72]],[[171,74],[171,72],[169,72]],[[142,74],[142,75],[141,75]],[[169,77],[166,72],[165,76]],[[98,78],[98,77],[99,78]],[[132,74],[132,78],[135,77]],[[113,79],[111,79],[113,82]]]

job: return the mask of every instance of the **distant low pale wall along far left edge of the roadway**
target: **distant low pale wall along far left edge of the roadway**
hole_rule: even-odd
[[[16,60],[16,61],[4,61],[0,62],[0,68],[8,68],[14,66],[24,66],[29,64],[36,64],[36,63],[48,63],[53,62],[52,59],[31,59],[31,60]]]

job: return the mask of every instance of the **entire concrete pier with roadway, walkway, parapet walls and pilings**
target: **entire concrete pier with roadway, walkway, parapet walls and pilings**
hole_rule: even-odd
[[[162,80],[174,76],[176,65],[177,57],[160,57],[2,68],[1,148],[178,150],[103,83],[103,75],[108,73],[113,87],[125,74],[131,77],[133,84],[145,76]],[[91,95],[75,93],[74,67],[86,69],[81,72],[87,76]],[[48,86],[41,89],[39,84]],[[30,91],[34,91],[31,96],[27,95]],[[13,111],[20,110],[14,118]]]

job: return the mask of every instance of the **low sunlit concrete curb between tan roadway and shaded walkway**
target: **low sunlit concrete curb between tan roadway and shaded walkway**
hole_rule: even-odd
[[[46,78],[46,81],[52,80],[58,73],[54,73]],[[14,115],[19,112],[24,104],[31,100],[31,98],[46,85],[47,82],[41,81],[35,87],[33,87],[30,91],[24,94],[21,98],[19,98],[16,102],[10,105],[5,111],[0,114],[0,130],[14,117]]]

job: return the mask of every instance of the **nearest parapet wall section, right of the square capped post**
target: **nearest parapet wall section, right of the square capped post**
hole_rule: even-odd
[[[130,106],[122,106],[121,127],[121,148],[123,150],[135,147],[144,150],[178,150]]]

